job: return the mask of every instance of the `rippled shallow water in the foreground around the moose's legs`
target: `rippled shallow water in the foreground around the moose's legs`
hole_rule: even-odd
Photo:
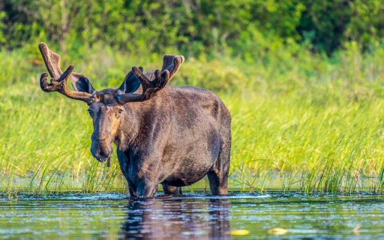
[[[103,193],[0,199],[1,238],[282,236],[276,234],[383,238],[384,197],[269,193],[133,200]]]

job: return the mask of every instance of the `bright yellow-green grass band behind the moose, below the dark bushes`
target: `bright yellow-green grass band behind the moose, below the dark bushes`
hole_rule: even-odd
[[[97,89],[116,88],[134,65],[161,62],[157,55],[125,60],[108,47],[87,53],[64,56],[62,66],[75,59]],[[383,57],[384,49],[361,54],[350,46],[333,58],[304,50],[254,62],[188,58],[173,84],[211,89],[228,106],[230,188],[382,192]],[[39,89],[45,70],[36,51],[3,50],[0,59],[0,187],[8,194],[126,192],[116,155],[107,168],[89,152],[86,104]],[[195,189],[207,189],[206,181],[187,187]]]

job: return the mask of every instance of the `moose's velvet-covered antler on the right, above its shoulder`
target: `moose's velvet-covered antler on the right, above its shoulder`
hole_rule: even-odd
[[[117,101],[119,104],[123,105],[127,102],[142,102],[155,97],[156,94],[169,82],[169,80],[175,76],[183,62],[183,56],[165,55],[161,71],[155,71],[155,79],[152,81],[149,80],[138,67],[133,67],[132,73],[135,74],[135,76],[140,80],[142,93],[126,93],[116,95]]]

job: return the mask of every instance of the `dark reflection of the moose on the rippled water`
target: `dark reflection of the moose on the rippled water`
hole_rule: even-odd
[[[130,200],[121,233],[125,238],[230,238],[227,199]]]

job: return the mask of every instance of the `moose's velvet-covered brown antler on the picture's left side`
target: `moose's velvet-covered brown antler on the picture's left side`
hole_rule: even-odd
[[[39,50],[44,60],[49,75],[51,75],[51,82],[48,83],[48,74],[42,73],[40,77],[40,88],[44,92],[59,92],[64,96],[67,96],[72,99],[81,100],[91,104],[94,101],[92,94],[86,92],[73,92],[67,87],[68,77],[74,79],[83,77],[79,73],[73,73],[75,68],[73,65],[69,66],[68,69],[62,73],[60,69],[60,56],[57,53],[52,52],[46,45],[46,43],[41,42],[39,44]]]

